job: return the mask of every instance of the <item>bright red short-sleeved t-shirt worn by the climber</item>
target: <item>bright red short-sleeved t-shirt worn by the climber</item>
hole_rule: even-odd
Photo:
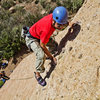
[[[29,29],[30,34],[40,39],[42,43],[48,43],[50,36],[55,31],[52,26],[52,20],[52,14],[43,17]]]

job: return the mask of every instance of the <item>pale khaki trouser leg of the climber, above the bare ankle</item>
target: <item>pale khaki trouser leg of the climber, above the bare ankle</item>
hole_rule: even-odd
[[[31,49],[36,55],[36,71],[43,73],[45,71],[44,62],[45,62],[45,53],[40,46],[39,40],[36,38],[25,38],[26,45]]]

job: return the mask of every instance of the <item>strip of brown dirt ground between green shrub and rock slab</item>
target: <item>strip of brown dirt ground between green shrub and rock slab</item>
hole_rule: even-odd
[[[9,60],[8,65],[6,66],[5,69],[0,69],[1,71],[5,71],[5,74],[7,76],[9,76],[14,69],[17,67],[17,65],[26,57],[28,56],[30,53],[28,48],[25,45],[22,45],[22,49],[13,57]]]

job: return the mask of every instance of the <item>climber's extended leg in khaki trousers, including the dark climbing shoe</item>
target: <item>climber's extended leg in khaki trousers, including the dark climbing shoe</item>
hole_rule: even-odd
[[[43,49],[41,48],[39,41],[37,39],[30,39],[26,37],[26,45],[35,53],[36,55],[36,72],[35,78],[38,83],[42,86],[46,85],[46,81],[41,77],[40,73],[45,71],[44,62],[45,62],[45,54]]]

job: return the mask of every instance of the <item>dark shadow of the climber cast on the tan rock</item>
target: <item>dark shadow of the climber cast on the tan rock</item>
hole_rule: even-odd
[[[60,44],[58,45],[57,54],[55,54],[54,56],[57,56],[62,52],[62,49],[65,47],[68,40],[72,41],[77,37],[78,33],[80,32],[80,29],[81,29],[81,26],[78,24],[75,24],[74,26],[72,26],[72,28],[70,28],[68,30],[68,33],[62,38]],[[51,61],[50,64],[51,64],[51,67],[50,67],[49,71],[46,73],[46,76],[44,77],[44,79],[49,78],[51,73],[53,72],[53,70],[56,67],[56,65],[54,64],[53,61]]]

